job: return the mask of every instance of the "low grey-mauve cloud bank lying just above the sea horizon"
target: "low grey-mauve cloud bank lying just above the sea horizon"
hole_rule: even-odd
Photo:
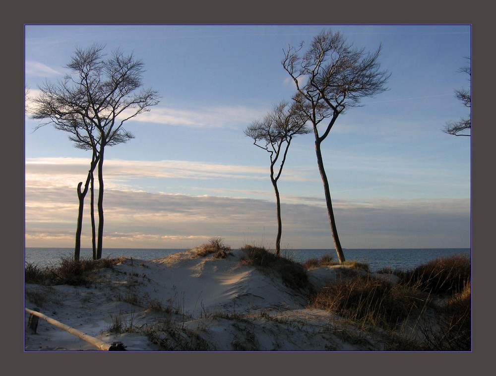
[[[105,247],[179,248],[186,239],[194,243],[211,236],[224,237],[233,247],[262,241],[270,247],[275,239],[275,203],[267,200],[109,189],[104,205]],[[345,248],[470,247],[469,199],[336,200],[334,210]],[[30,189],[27,246],[60,237],[70,247],[67,234],[74,231],[76,213],[73,190]],[[282,219],[285,247],[332,248],[325,207],[283,203]]]

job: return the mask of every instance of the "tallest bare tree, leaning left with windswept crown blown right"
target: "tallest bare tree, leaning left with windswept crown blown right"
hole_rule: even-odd
[[[296,84],[298,92],[294,100],[300,113],[312,125],[329,224],[342,263],[345,257],[336,229],[321,144],[345,109],[359,106],[362,97],[372,97],[387,90],[385,84],[389,73],[380,70],[380,46],[375,52],[366,53],[365,49],[348,44],[340,32],[324,30],[313,38],[305,53],[302,53],[303,47],[303,42],[296,48],[289,46],[281,63]],[[320,123],[324,123],[322,133],[319,132]]]

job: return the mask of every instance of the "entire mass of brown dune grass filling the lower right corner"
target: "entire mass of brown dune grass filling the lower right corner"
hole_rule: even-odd
[[[470,351],[470,258],[441,257],[414,270],[383,269],[400,280],[343,274],[314,292],[310,307],[371,332],[389,333],[389,350]],[[408,328],[408,330],[405,330]]]

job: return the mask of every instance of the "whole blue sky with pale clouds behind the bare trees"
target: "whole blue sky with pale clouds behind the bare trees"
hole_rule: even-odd
[[[25,25],[25,246],[73,247],[76,187],[91,153],[30,117],[39,85],[68,73],[77,47],[121,48],[145,64],[160,103],[106,149],[105,248],[275,247],[269,156],[244,129],[295,86],[288,46],[323,29],[381,46],[388,90],[341,114],[322,143],[344,249],[470,248],[471,137],[442,132],[468,115],[454,90],[471,56],[470,25]],[[284,249],[333,249],[313,134],[291,143],[278,182]],[[89,200],[82,247],[91,247]]]

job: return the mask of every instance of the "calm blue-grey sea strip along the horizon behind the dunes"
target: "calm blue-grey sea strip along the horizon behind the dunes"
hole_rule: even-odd
[[[72,256],[72,248],[26,248],[24,253],[25,262],[40,266],[56,264],[63,256]],[[186,251],[184,249],[132,249],[132,248],[108,248],[103,249],[102,257],[126,256],[143,260],[161,258],[173,253]],[[384,267],[393,269],[412,270],[419,265],[431,261],[437,257],[451,256],[454,254],[471,255],[470,248],[423,248],[423,249],[356,249],[343,250],[347,260],[367,262],[372,271]],[[320,258],[324,254],[332,255],[337,260],[335,250],[281,250],[281,253],[298,262],[304,262],[310,258]],[[92,251],[89,248],[81,249],[82,258],[91,258]]]

